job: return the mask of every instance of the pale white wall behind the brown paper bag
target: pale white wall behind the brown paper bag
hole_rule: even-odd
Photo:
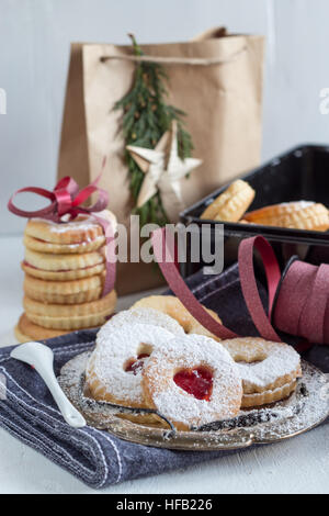
[[[223,24],[265,34],[264,160],[328,142],[328,0],[0,0],[0,233],[24,225],[7,213],[11,192],[55,183],[70,42],[184,41]]]

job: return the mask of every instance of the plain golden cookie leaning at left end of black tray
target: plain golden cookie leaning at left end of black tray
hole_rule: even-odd
[[[201,218],[238,222],[254,199],[254,190],[248,182],[238,179],[222,193],[201,215]]]

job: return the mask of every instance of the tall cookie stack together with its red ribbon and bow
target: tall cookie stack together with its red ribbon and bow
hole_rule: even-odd
[[[65,177],[53,191],[21,188],[8,202],[12,213],[29,218],[22,262],[25,313],[15,328],[20,341],[99,326],[115,310],[116,218],[106,210],[109,193],[98,187],[100,179],[80,190]],[[14,200],[22,192],[41,195],[48,204],[21,210]],[[95,201],[87,206],[91,195]]]

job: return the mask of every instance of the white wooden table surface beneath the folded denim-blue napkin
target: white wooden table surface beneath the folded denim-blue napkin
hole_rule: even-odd
[[[14,344],[21,309],[21,237],[0,238],[0,345]],[[135,296],[136,298],[136,296]],[[120,300],[120,307],[134,299]],[[0,493],[89,493],[84,484],[0,429]],[[329,493],[329,427],[188,470],[105,490],[143,493]]]

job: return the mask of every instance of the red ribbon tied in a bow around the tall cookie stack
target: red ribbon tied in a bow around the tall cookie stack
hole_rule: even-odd
[[[105,160],[103,161],[103,167],[104,165]],[[63,224],[65,224],[65,222],[61,220],[63,215],[69,215],[70,221],[75,220],[79,214],[89,214],[94,217],[103,227],[105,236],[106,274],[102,293],[102,295],[104,296],[109,294],[114,288],[116,256],[114,248],[114,229],[112,227],[111,222],[101,216],[95,215],[95,213],[105,210],[109,204],[109,194],[106,190],[103,190],[98,187],[101,176],[102,173],[100,173],[93,182],[91,182],[88,187],[83,188],[82,190],[79,190],[78,183],[70,177],[65,177],[60,179],[53,191],[37,187],[21,188],[9,200],[8,209],[15,215],[25,218],[39,217]],[[37,195],[48,199],[50,203],[48,206],[43,207],[41,210],[21,210],[14,205],[13,200],[19,193],[24,192],[36,193]],[[92,193],[99,194],[95,203],[89,207],[82,206],[81,204],[83,204],[83,202],[86,202]]]

